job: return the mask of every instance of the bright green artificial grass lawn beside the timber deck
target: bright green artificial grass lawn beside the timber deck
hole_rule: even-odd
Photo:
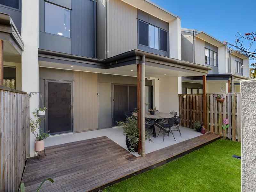
[[[220,139],[204,148],[136,175],[103,192],[239,192],[241,144]]]

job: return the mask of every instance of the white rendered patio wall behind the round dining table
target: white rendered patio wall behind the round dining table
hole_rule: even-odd
[[[180,88],[181,90],[181,88]],[[179,77],[159,78],[160,112],[179,112]]]

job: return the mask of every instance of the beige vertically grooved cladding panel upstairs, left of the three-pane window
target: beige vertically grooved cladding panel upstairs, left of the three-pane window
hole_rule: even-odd
[[[120,0],[109,1],[109,57],[137,49],[137,9]]]

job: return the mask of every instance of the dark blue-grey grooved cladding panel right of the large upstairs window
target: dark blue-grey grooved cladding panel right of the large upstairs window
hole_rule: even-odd
[[[94,2],[71,0],[71,54],[94,56]]]

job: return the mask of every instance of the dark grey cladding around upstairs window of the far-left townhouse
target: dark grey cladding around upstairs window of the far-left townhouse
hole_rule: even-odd
[[[21,35],[21,0],[19,0],[19,9],[0,4],[0,12],[9,14],[11,16],[14,25]]]

